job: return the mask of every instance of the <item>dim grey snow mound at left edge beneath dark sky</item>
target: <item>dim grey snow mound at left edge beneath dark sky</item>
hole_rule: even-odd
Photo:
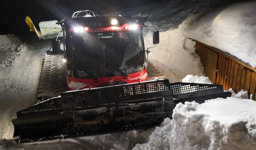
[[[0,35],[0,49],[16,50],[22,41],[14,34]]]

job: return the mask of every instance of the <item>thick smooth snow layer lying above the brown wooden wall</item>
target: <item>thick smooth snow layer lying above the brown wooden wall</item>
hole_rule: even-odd
[[[230,53],[256,67],[256,1],[191,14],[179,26],[182,35]]]

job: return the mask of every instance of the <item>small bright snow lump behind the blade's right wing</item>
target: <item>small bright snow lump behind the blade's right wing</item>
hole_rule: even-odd
[[[182,82],[188,82],[188,83],[202,83],[202,84],[213,84],[209,77],[205,76],[193,76],[193,75],[187,75],[182,79]]]

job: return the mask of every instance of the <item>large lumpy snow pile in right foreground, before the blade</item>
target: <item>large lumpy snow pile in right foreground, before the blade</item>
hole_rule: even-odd
[[[203,104],[177,104],[173,119],[157,127],[145,144],[147,149],[246,149],[256,147],[256,102],[248,99],[208,100]]]

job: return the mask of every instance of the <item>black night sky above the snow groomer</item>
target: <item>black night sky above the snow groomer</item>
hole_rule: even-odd
[[[78,10],[104,14],[157,1],[160,0],[2,0],[0,34],[14,33],[25,39],[34,36],[34,33],[29,33],[25,16],[29,16],[38,26],[40,21],[70,17]]]

